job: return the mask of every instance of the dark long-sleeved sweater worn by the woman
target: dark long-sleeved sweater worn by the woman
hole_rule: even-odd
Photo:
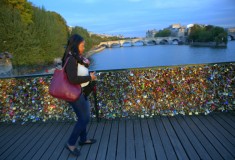
[[[68,80],[73,84],[81,84],[91,81],[91,76],[77,76],[78,62],[73,56],[69,56],[68,63],[65,66],[65,72],[67,73]]]

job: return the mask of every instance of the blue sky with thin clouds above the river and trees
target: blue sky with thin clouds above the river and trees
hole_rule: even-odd
[[[124,37],[145,37],[171,24],[235,27],[235,0],[28,0],[59,13],[68,26]]]

